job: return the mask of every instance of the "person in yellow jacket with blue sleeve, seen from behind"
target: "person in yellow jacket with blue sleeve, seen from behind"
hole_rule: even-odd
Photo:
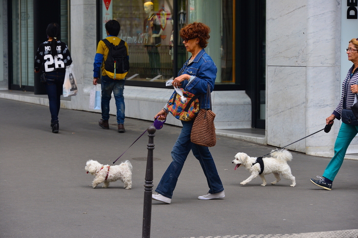
[[[122,41],[118,38],[119,31],[121,30],[121,26],[118,21],[116,20],[109,20],[105,24],[105,29],[107,32],[106,39],[114,44],[119,45]],[[128,56],[128,45],[124,42],[127,48],[127,59]],[[93,84],[97,85],[98,78],[100,77],[100,69],[102,69],[102,77],[101,77],[101,89],[102,89],[102,98],[101,98],[101,109],[102,109],[102,119],[99,120],[98,124],[103,129],[109,129],[108,119],[109,119],[109,101],[111,98],[111,93],[113,92],[116,100],[116,107],[117,107],[117,124],[118,124],[118,132],[124,133],[124,82],[125,73],[117,73],[109,72],[105,70],[105,61],[108,57],[109,48],[100,40],[97,46],[97,52],[95,56],[95,63],[94,63],[94,73],[93,73]]]

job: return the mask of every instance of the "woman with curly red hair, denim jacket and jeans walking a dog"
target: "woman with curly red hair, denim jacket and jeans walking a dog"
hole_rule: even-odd
[[[211,108],[210,101],[206,101],[205,95],[213,91],[217,72],[215,63],[204,49],[208,45],[209,33],[210,28],[200,22],[188,24],[180,30],[180,36],[184,39],[183,44],[192,56],[185,62],[172,82],[175,87],[184,88],[185,91],[195,95],[202,94],[199,97],[200,109]],[[210,92],[207,92],[208,85],[210,86]],[[164,108],[154,118],[159,117],[159,120],[164,120],[167,115],[168,110]],[[155,190],[156,193],[153,193],[152,199],[167,204],[171,203],[177,179],[190,150],[202,166],[209,186],[209,192],[204,196],[199,196],[198,199],[222,199],[225,197],[225,192],[209,148],[196,145],[190,141],[194,121],[181,122],[183,124],[181,134],[171,151],[172,162],[159,182]]]

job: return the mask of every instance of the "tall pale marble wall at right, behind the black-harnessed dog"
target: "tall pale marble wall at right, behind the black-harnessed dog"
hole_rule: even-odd
[[[266,1],[267,144],[282,147],[323,129],[338,104],[341,4]],[[335,120],[329,134],[322,131],[287,148],[331,156],[339,127]],[[347,152],[356,148],[354,139]]]

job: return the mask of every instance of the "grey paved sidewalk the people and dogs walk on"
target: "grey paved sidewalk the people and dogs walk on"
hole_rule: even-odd
[[[129,108],[126,110],[130,110]],[[153,115],[155,112],[153,112]],[[60,110],[60,131],[51,133],[48,107],[0,99],[0,237],[141,237],[148,137],[145,134],[117,162],[133,165],[133,188],[121,181],[91,187],[87,160],[110,164],[152,123],[126,118],[126,133],[101,129],[99,113]],[[154,137],[154,189],[171,162],[180,127],[164,125]],[[288,139],[288,141],[291,141]],[[211,148],[225,187],[222,200],[198,200],[206,179],[190,154],[172,203],[152,203],[151,237],[357,237],[358,161],[346,160],[332,191],[309,178],[322,175],[329,158],[292,152],[297,186],[282,179],[261,187],[244,168],[234,170],[237,152],[260,156],[273,147],[218,137]],[[123,158],[123,160],[122,160]],[[267,175],[268,182],[274,176]]]

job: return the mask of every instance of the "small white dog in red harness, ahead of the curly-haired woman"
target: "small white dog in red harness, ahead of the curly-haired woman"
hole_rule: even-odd
[[[102,188],[108,188],[110,182],[121,180],[124,183],[125,189],[132,188],[132,165],[129,161],[125,161],[120,165],[101,165],[97,161],[89,160],[84,168],[87,173],[95,175],[92,181],[92,187],[96,188],[97,185],[103,182]]]

